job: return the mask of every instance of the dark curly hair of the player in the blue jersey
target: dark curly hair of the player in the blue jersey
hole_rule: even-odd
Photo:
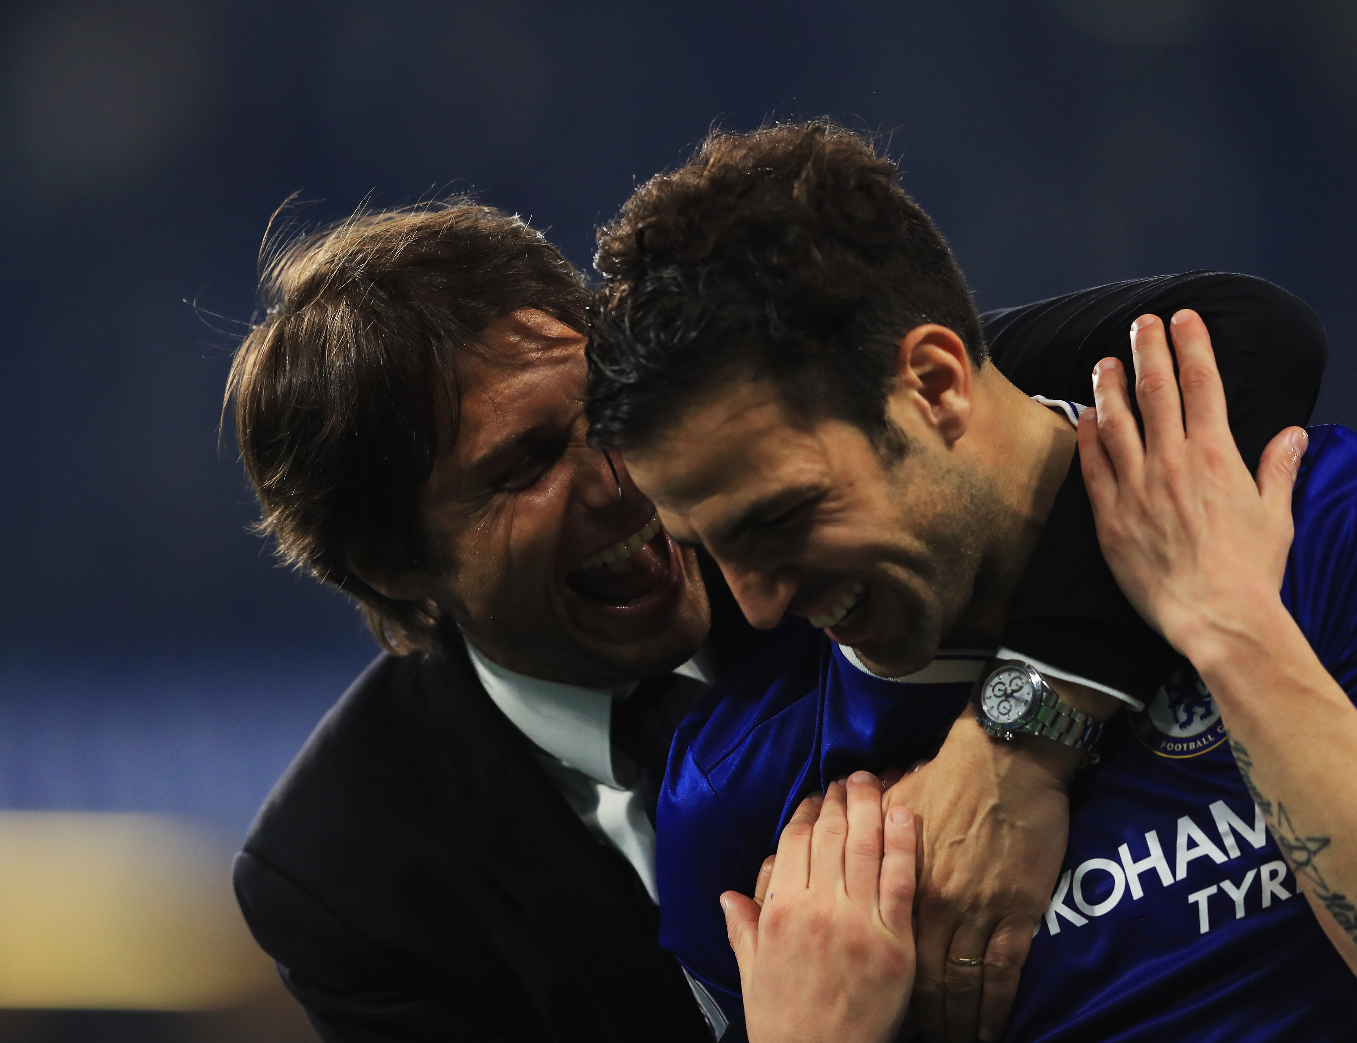
[[[939,323],[985,342],[942,235],[866,136],[829,121],[714,132],[598,233],[590,438],[636,445],[733,372],[807,419],[904,452],[886,415],[900,339]]]

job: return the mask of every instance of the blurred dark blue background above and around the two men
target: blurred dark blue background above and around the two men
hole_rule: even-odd
[[[269,214],[476,191],[579,264],[712,125],[879,130],[981,307],[1217,267],[1329,326],[1357,426],[1350,0],[11,3],[0,806],[237,833],[373,654],[217,418]],[[1285,345],[1277,345],[1278,355]]]

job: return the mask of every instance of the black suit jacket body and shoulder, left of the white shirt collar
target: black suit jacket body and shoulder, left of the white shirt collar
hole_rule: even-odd
[[[460,642],[364,671],[274,788],[235,884],[326,1040],[710,1040],[635,872]]]

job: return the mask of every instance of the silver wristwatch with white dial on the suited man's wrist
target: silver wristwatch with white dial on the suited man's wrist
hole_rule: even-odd
[[[992,739],[1037,735],[1083,750],[1096,760],[1094,747],[1102,722],[1063,703],[1046,678],[1022,659],[991,659],[976,684],[976,723]]]

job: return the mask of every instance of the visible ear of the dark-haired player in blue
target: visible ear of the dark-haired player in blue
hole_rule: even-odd
[[[906,431],[915,425],[905,414],[912,414],[950,445],[970,425],[973,378],[966,343],[946,326],[924,323],[900,342],[896,387],[886,406]]]

